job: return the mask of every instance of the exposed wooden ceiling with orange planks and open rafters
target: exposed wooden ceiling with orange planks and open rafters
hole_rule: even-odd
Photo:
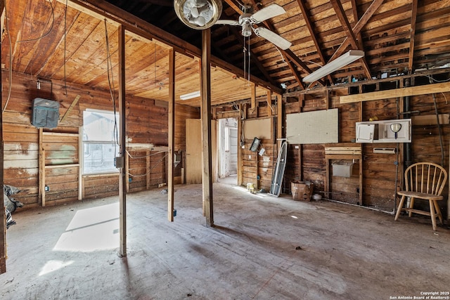
[[[274,3],[286,13],[259,26],[291,41],[287,50],[255,34],[244,39],[240,27],[212,27],[213,105],[250,98],[252,89],[264,96],[267,89],[302,91],[450,63],[450,0],[224,0],[221,19],[237,20],[242,4],[258,11]],[[5,70],[11,65],[14,72],[109,89],[108,69],[117,72],[117,24],[123,22],[130,94],[167,100],[172,46],[177,99],[198,90],[201,31],[176,18],[172,0],[73,0],[67,10],[63,0],[6,0],[6,12]],[[349,49],[363,50],[364,58],[304,84],[307,74]],[[246,80],[249,73],[255,86]],[[198,99],[184,103],[198,105]]]

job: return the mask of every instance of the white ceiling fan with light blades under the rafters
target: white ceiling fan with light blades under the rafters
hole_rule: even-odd
[[[250,37],[253,31],[258,37],[262,37],[270,41],[278,48],[286,50],[292,45],[290,41],[284,39],[280,35],[268,30],[265,27],[253,26],[270,18],[274,18],[277,15],[282,15],[285,12],[285,9],[278,4],[271,4],[269,6],[266,6],[256,13],[252,13],[251,6],[243,6],[243,14],[239,16],[238,20],[218,20],[217,22],[215,22],[215,24],[240,25],[242,27],[242,35],[244,37]]]

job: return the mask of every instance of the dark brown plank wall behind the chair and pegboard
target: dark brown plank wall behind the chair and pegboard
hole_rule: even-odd
[[[416,77],[416,84],[426,84],[428,78]],[[395,86],[394,83],[390,84]],[[398,83],[397,83],[398,84]],[[378,89],[378,86],[377,86]],[[359,89],[361,90],[361,88]],[[327,97],[324,93],[301,95],[299,98],[285,99],[285,113],[307,112],[323,110],[327,108],[339,109],[339,136],[340,143],[354,143],[355,123],[368,121],[371,117],[383,119],[401,119],[403,115],[403,99],[384,99],[366,101],[364,103],[340,104],[339,96],[349,94],[348,89],[335,89]],[[439,114],[448,114],[450,106],[448,100],[450,93],[435,95]],[[435,106],[432,95],[413,96],[410,98],[410,111],[414,115],[428,116],[435,119]],[[420,112],[420,113],[419,113]],[[444,167],[449,169],[449,145],[450,126],[441,124],[444,148]],[[439,129],[434,122],[430,125],[414,125],[412,127],[411,162],[435,162],[442,164],[442,153],[439,142]],[[336,144],[336,145],[339,145]],[[295,146],[298,146],[296,148]],[[359,191],[359,162],[353,166],[353,175],[350,178],[330,176],[330,197],[352,204],[360,204],[368,207],[392,211],[395,205],[396,178],[397,188],[403,181],[404,144],[398,145],[397,154],[373,153],[373,148],[397,148],[397,143],[364,143],[363,153],[363,190]],[[396,162],[399,162],[397,169]],[[397,173],[398,172],[398,173]],[[326,178],[326,162],[324,145],[290,145],[288,150],[288,167],[285,172],[285,187],[290,187],[290,182],[310,180],[314,182],[314,193],[324,190],[323,183]],[[444,189],[444,199],[448,197],[449,187]],[[289,190],[286,189],[286,193]],[[359,203],[359,193],[363,193],[363,201]],[[397,201],[398,203],[398,201]],[[446,215],[446,201],[439,202],[443,214]]]

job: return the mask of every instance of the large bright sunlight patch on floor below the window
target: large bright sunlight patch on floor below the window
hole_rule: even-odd
[[[77,211],[53,251],[93,252],[119,247],[119,204]]]

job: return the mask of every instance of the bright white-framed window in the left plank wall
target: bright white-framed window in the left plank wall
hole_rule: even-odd
[[[119,115],[102,110],[83,112],[83,174],[117,172]]]

